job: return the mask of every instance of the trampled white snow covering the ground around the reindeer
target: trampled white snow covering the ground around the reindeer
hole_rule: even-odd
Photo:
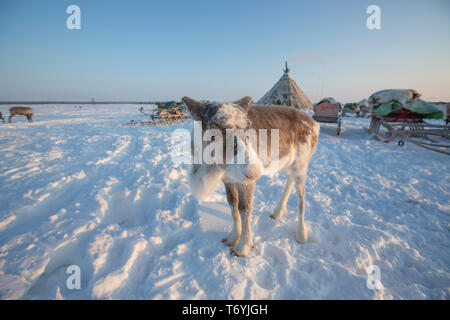
[[[8,107],[1,106],[4,114]],[[198,203],[170,160],[183,125],[129,127],[137,106],[35,106],[0,124],[2,299],[449,299],[450,158],[322,124],[306,183],[309,242],[283,174],[258,181],[255,249],[229,255],[224,188]],[[81,270],[81,289],[66,269]],[[377,265],[382,287],[369,289]]]

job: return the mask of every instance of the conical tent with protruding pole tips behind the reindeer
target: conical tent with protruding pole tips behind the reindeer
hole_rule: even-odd
[[[289,75],[287,63],[281,79],[256,103],[291,106],[301,110],[312,107],[311,100]]]

